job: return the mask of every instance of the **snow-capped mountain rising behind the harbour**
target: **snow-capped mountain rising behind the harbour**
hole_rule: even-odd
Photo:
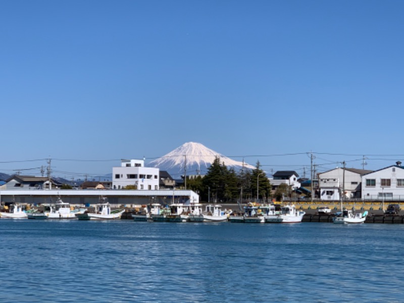
[[[233,167],[236,171],[243,167],[242,162],[234,161],[196,142],[184,143],[167,155],[151,161],[147,166],[167,171],[173,178],[177,179],[184,175],[185,163],[187,175],[205,175],[216,157],[219,157],[220,162],[228,168]],[[244,168],[254,169],[255,167],[244,163]]]

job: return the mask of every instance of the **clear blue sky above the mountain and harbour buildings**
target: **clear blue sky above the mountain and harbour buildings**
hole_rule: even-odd
[[[401,0],[1,1],[0,172],[52,158],[56,175],[106,174],[188,141],[300,175],[310,151],[320,171],[404,163],[403,15]]]

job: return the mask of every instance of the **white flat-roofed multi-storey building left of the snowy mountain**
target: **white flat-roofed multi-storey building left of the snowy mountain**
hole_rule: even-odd
[[[160,170],[144,167],[143,160],[122,160],[120,167],[112,168],[113,189],[133,185],[140,190],[158,190]]]

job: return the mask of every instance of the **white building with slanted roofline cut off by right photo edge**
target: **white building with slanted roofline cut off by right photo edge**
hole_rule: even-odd
[[[397,161],[362,176],[362,198],[400,200],[404,198],[404,167]]]

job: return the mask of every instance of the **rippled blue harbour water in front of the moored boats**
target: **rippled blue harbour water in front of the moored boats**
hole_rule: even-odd
[[[404,225],[0,220],[4,302],[402,302]]]

